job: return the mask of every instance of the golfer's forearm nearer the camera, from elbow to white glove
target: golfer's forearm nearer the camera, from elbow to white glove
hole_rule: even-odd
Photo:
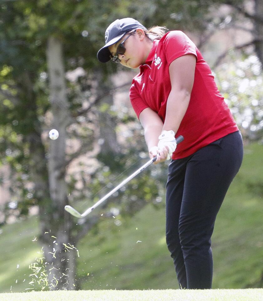
[[[178,131],[180,123],[188,108],[191,94],[187,90],[171,90],[166,107],[165,121],[162,130]]]

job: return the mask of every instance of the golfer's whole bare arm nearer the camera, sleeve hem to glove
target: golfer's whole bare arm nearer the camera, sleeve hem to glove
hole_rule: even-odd
[[[166,116],[162,130],[178,131],[188,108],[194,81],[196,57],[188,54],[178,57],[169,66],[171,92],[167,99]]]

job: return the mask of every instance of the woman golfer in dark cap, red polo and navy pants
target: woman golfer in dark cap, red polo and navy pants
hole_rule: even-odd
[[[140,68],[130,100],[150,158],[172,159],[166,187],[166,241],[179,287],[212,286],[211,236],[243,158],[240,131],[200,51],[182,31],[114,21],[101,62]],[[184,141],[176,148],[175,137]],[[176,149],[176,150],[175,150]]]

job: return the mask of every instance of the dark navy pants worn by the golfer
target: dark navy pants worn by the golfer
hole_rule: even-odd
[[[242,159],[237,131],[168,167],[166,242],[182,288],[212,286],[215,218]]]

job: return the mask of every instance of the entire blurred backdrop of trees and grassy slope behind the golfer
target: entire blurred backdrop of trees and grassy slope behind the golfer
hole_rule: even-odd
[[[213,288],[263,287],[263,2],[0,2],[0,292],[178,288],[165,242],[168,163],[150,166],[129,103],[138,70],[101,64],[107,26],[132,17],[201,50],[244,139],[219,212]],[[50,129],[59,131],[50,140]]]

